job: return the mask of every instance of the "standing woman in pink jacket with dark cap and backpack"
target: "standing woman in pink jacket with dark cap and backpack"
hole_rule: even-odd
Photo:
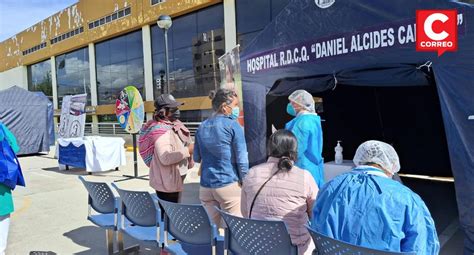
[[[191,160],[193,144],[189,130],[179,121],[182,103],[163,94],[155,100],[155,116],[140,131],[138,146],[145,164],[150,167],[150,186],[160,199],[177,203]],[[161,207],[161,205],[160,205]],[[163,208],[162,208],[163,216]]]

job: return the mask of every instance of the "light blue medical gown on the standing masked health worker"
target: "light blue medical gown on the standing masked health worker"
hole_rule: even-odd
[[[314,113],[299,114],[286,123],[285,129],[298,139],[298,160],[296,166],[308,170],[318,187],[324,184],[323,130],[321,117]]]

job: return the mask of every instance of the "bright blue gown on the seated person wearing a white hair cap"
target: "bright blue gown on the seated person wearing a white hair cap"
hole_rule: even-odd
[[[403,184],[367,171],[380,170],[358,167],[324,185],[311,227],[372,249],[438,254],[435,224],[423,200]]]

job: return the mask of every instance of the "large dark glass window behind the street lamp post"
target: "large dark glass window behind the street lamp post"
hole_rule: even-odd
[[[163,88],[164,34],[151,28],[154,92]],[[207,96],[219,86],[218,58],[225,53],[224,10],[218,4],[173,19],[168,32],[170,92],[176,98]]]

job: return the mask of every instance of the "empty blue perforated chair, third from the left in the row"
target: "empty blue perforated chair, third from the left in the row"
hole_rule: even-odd
[[[202,205],[177,204],[161,199],[158,201],[165,211],[165,251],[176,255],[223,254],[224,238],[217,234],[216,226],[211,224]],[[168,233],[179,242],[169,245]]]

